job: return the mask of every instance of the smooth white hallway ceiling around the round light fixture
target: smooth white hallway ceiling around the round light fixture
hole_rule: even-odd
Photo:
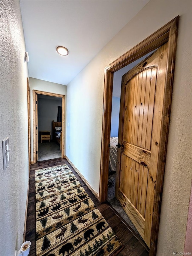
[[[67,85],[148,2],[20,0],[29,76]]]

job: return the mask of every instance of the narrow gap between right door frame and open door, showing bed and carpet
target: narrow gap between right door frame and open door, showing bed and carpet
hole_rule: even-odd
[[[128,64],[124,68],[114,72],[113,74],[113,97],[112,97],[112,111],[111,111],[111,132],[110,132],[110,158],[109,158],[109,177],[108,177],[108,193],[107,201],[110,203],[111,207],[123,218],[123,220],[128,224],[129,227],[135,232],[138,239],[142,239],[139,232],[135,228],[134,224],[131,222],[130,218],[127,216],[115,197],[116,190],[116,168],[117,168],[117,151],[118,151],[118,134],[119,134],[119,112],[120,112],[120,98],[121,98],[121,88],[122,88],[122,77],[132,68],[134,68],[141,61],[146,59],[156,50],[149,52],[145,56],[139,58],[138,60]],[[142,240],[143,242],[143,240]],[[146,248],[148,249],[148,248]]]

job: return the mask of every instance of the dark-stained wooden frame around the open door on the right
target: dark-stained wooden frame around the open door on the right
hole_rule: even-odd
[[[113,93],[113,73],[125,67],[131,62],[143,57],[147,53],[157,49],[164,43],[168,42],[168,60],[166,71],[166,84],[164,93],[164,106],[162,114],[160,149],[158,157],[157,182],[155,189],[152,233],[149,248],[149,256],[155,256],[157,251],[157,240],[159,231],[159,221],[161,212],[161,199],[163,191],[163,180],[165,161],[167,153],[167,140],[169,132],[171,99],[173,91],[173,76],[176,59],[176,44],[178,34],[179,16],[175,17],[165,26],[157,30],[151,36],[140,42],[134,48],[126,52],[124,55],[113,61],[105,68],[104,78],[104,103],[103,103],[103,125],[101,140],[101,166],[100,166],[100,188],[99,201],[107,200],[108,189],[108,169],[109,169],[109,144],[111,129],[111,110],[112,110],[112,93]],[[118,164],[118,163],[117,163]]]

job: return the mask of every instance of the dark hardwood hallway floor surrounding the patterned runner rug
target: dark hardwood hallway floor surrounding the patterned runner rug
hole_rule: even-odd
[[[29,256],[35,256],[35,170],[45,167],[51,167],[60,164],[68,164],[72,172],[75,174],[85,191],[90,198],[94,201],[96,207],[101,214],[107,220],[116,236],[121,240],[125,246],[124,249],[118,254],[119,256],[148,256],[149,253],[144,245],[137,238],[137,234],[134,235],[134,231],[129,229],[121,220],[121,217],[116,214],[108,203],[100,203],[93,193],[88,189],[73,167],[66,159],[57,158],[46,161],[40,161],[30,166],[30,182],[29,182],[29,200],[27,211],[27,224],[26,224],[26,241],[31,241]]]

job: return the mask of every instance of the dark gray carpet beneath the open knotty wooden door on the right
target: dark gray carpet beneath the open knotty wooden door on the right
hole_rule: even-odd
[[[110,175],[108,178],[108,198],[107,201],[112,205],[112,207],[119,213],[119,215],[128,223],[128,225],[140,236],[139,232],[135,228],[134,224],[131,222],[117,199],[115,198],[115,180],[116,180],[116,173]],[[140,236],[142,239],[142,237]]]

